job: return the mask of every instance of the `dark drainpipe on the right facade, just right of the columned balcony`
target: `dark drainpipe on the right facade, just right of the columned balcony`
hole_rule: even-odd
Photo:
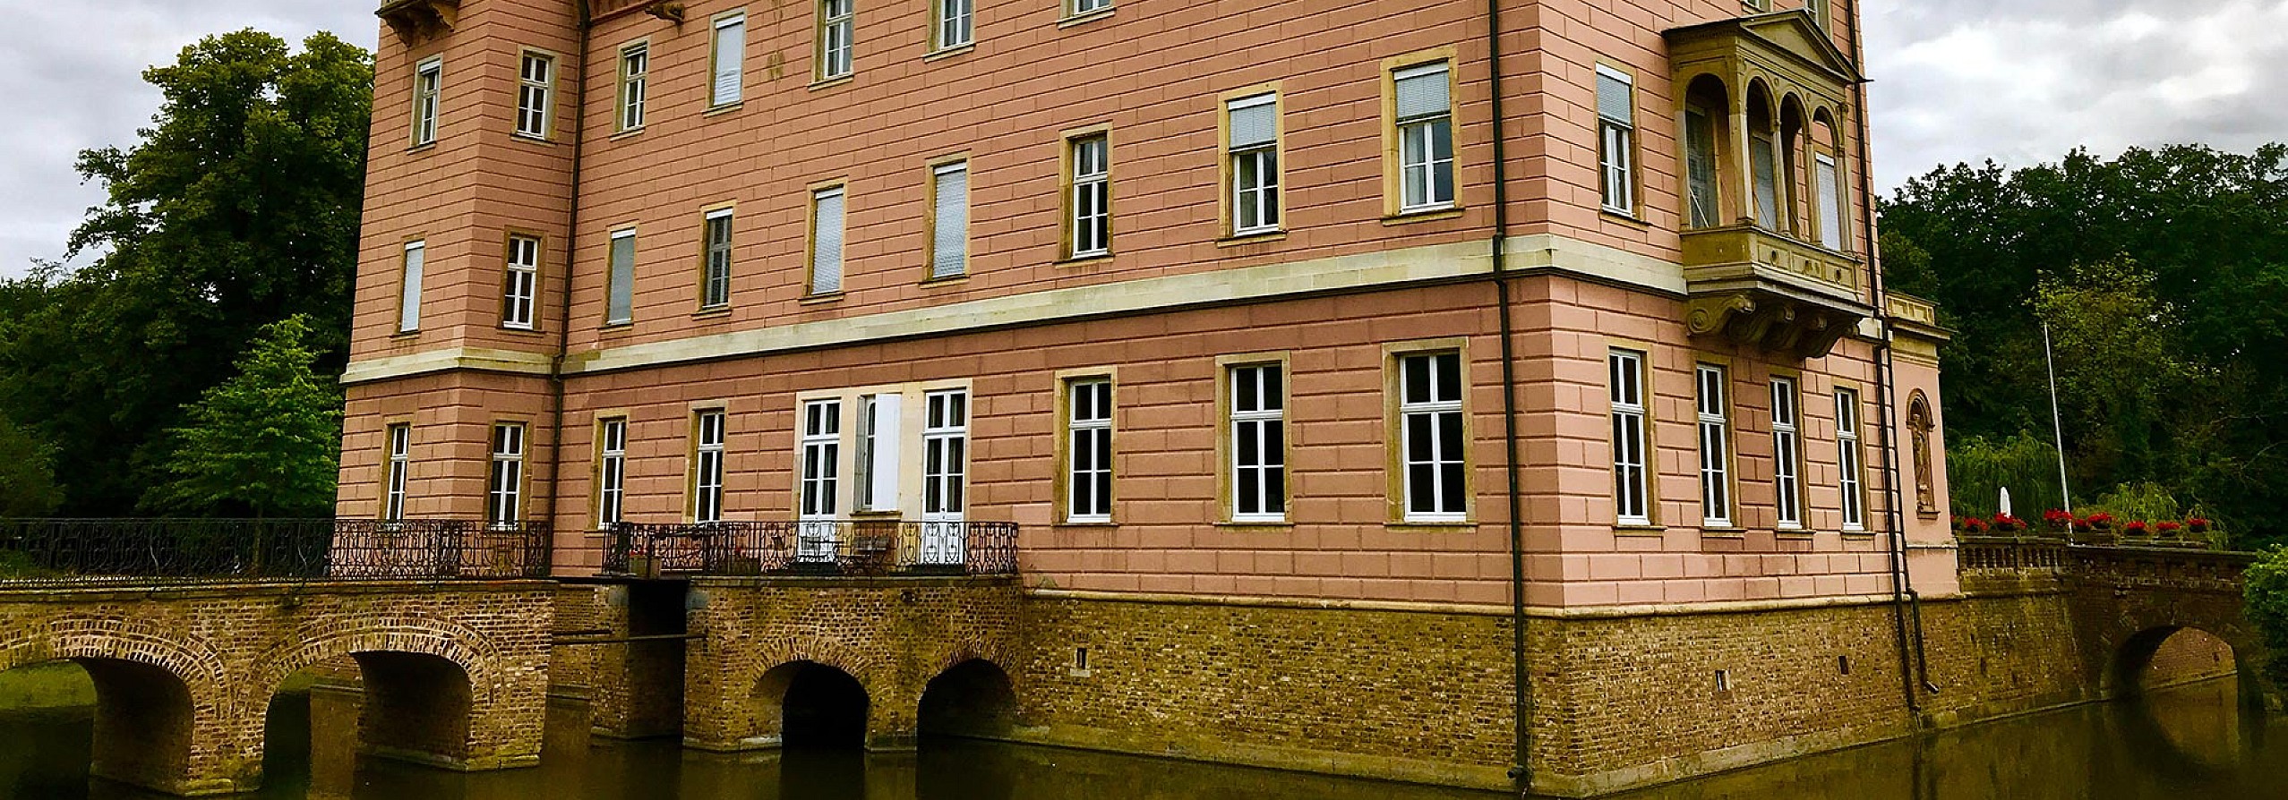
[[[1851,37],[1851,59],[1860,66],[1867,64],[1867,46],[1860,41],[1860,5],[1851,2],[1851,25],[1844,32]],[[1922,647],[1922,597],[1915,594],[1913,578],[1906,569],[1906,514],[1901,503],[1906,503],[1904,491],[1899,491],[1899,441],[1894,434],[1894,409],[1897,409],[1897,370],[1892,361],[1890,338],[1894,329],[1890,325],[1890,288],[1883,281],[1881,254],[1876,251],[1876,226],[1874,226],[1874,158],[1872,144],[1867,142],[1867,78],[1851,85],[1851,103],[1858,105],[1858,183],[1860,197],[1867,199],[1867,213],[1860,215],[1860,229],[1867,235],[1867,274],[1874,279],[1874,315],[1881,322],[1881,338],[1874,345],[1876,359],[1876,414],[1881,414],[1883,425],[1876,432],[1883,437],[1883,523],[1890,528],[1890,585],[1892,585],[1892,629],[1899,645],[1899,683],[1906,695],[1906,711],[1915,720],[1922,718],[1922,693],[1938,693],[1931,683],[1931,665],[1924,658]]]

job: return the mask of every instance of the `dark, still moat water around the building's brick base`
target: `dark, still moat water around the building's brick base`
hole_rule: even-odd
[[[313,791],[307,704],[272,720],[265,800],[341,798]],[[85,709],[0,711],[0,798],[149,800],[89,782],[94,725]],[[318,784],[325,784],[320,777]],[[721,757],[673,743],[551,752],[547,766],[458,775],[364,759],[336,775],[355,800],[1462,800],[1499,798],[1405,784],[1224,768],[1052,747],[924,741],[913,754],[780,752]],[[2231,681],[2078,706],[1698,782],[1627,800],[2233,800],[2288,798],[2288,720],[2258,720]]]

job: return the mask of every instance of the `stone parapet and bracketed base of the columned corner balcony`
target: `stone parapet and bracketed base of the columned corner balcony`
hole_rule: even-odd
[[[1684,233],[1686,331],[1817,359],[1874,309],[1860,302],[1865,261],[1753,224]]]

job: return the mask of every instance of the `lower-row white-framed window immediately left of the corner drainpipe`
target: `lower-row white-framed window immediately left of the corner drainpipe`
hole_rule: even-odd
[[[1460,352],[1398,357],[1398,453],[1407,521],[1469,517],[1464,384]]]

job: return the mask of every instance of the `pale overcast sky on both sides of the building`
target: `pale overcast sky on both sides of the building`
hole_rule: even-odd
[[[1785,0],[1782,0],[1785,5]],[[101,187],[80,149],[128,146],[158,110],[142,69],[204,34],[313,30],[373,46],[375,0],[0,0],[0,274],[57,258]],[[1876,183],[1936,165],[2055,160],[2075,144],[2288,139],[2288,0],[1878,0]]]

